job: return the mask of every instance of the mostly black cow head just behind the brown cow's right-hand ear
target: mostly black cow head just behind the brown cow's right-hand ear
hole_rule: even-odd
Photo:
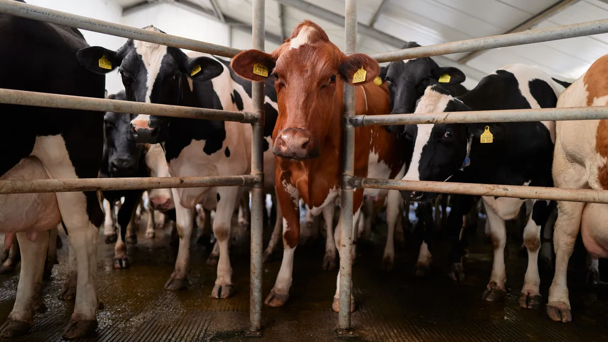
[[[409,42],[402,49],[419,46],[415,42]],[[380,77],[389,85],[391,114],[413,113],[416,100],[423,96],[427,86],[440,84],[449,88],[460,85],[466,79],[459,69],[440,67],[430,57],[390,62],[382,68]],[[458,95],[460,94],[454,94]],[[402,125],[395,125],[388,126],[387,130],[402,133],[403,128]]]

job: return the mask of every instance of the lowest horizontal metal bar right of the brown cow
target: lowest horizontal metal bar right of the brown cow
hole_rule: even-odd
[[[371,189],[395,189],[492,197],[514,197],[536,200],[556,200],[587,203],[608,203],[608,191],[590,189],[561,189],[558,187],[513,186],[429,181],[380,180],[354,178],[353,185]]]

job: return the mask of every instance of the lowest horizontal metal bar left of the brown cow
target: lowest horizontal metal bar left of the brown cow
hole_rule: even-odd
[[[2,180],[0,194],[97,190],[165,189],[173,187],[252,186],[255,176],[80,178],[60,180]]]

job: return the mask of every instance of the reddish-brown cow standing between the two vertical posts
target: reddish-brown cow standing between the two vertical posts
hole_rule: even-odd
[[[232,60],[232,68],[245,79],[275,78],[278,119],[272,133],[277,156],[277,197],[283,209],[283,262],[266,304],[278,307],[289,298],[295,246],[300,236],[299,197],[313,214],[333,206],[339,195],[342,160],[342,115],[344,82],[353,84],[354,74],[363,69],[356,88],[356,114],[389,114],[389,91],[372,80],[378,63],[364,54],[347,56],[330,42],[325,31],[311,21],[303,21],[291,37],[272,54],[247,50]],[[368,161],[374,156],[370,175],[395,178],[404,173],[396,136],[383,127],[355,130],[354,174],[368,175]],[[396,153],[395,153],[396,154]],[[402,153],[401,153],[402,154]],[[382,170],[382,171],[381,171]],[[373,171],[373,172],[372,172]],[[359,215],[364,192],[354,191],[353,222]],[[340,245],[340,223],[334,237]],[[350,227],[352,229],[352,227]],[[339,274],[338,274],[339,279]],[[336,289],[333,309],[339,310]],[[351,309],[354,309],[354,300]]]

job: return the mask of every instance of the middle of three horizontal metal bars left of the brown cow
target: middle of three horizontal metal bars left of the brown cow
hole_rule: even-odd
[[[237,121],[246,124],[252,124],[258,120],[258,115],[249,112],[211,110],[207,108],[159,105],[156,103],[121,100],[94,99],[93,97],[48,94],[46,92],[1,88],[0,103],[8,103],[10,105],[65,108],[71,110],[114,111],[117,113],[185,117],[187,119]]]

